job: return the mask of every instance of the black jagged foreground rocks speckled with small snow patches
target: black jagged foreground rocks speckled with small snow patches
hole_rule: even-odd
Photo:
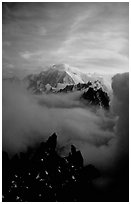
[[[37,149],[28,149],[26,153],[15,155],[12,159],[3,152],[3,201],[92,199],[92,180],[99,177],[99,171],[93,165],[83,166],[83,157],[75,146],[71,146],[69,156],[60,157],[56,152],[56,145],[57,136],[54,133]]]

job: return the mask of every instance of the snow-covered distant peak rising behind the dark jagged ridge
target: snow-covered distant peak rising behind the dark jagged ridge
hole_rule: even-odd
[[[42,93],[50,89],[59,91],[60,89],[64,89],[67,85],[85,84],[89,81],[94,82],[96,80],[101,81],[101,83],[103,82],[101,76],[88,75],[67,64],[54,64],[45,71],[39,74],[28,75],[24,79],[28,89],[34,93]]]

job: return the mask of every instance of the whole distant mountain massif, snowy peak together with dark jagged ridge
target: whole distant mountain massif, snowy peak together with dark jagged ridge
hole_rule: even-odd
[[[109,92],[101,77],[91,78],[77,68],[66,64],[52,65],[39,74],[31,74],[23,81],[16,77],[3,79],[17,84],[24,82],[24,86],[33,94],[65,94],[80,91],[80,100],[87,105],[100,106],[109,109]]]

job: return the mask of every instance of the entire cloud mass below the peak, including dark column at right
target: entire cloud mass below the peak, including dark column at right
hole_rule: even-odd
[[[128,155],[128,74],[113,77],[110,112],[83,105],[79,94],[34,96],[3,82],[3,150],[11,155],[46,140],[53,132],[63,155],[75,144],[85,164],[105,169]],[[110,161],[110,162],[109,162]]]

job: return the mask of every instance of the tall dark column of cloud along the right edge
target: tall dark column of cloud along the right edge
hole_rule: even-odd
[[[114,93],[112,108],[118,116],[115,132],[118,136],[118,157],[129,154],[129,73],[117,74],[113,77]]]

